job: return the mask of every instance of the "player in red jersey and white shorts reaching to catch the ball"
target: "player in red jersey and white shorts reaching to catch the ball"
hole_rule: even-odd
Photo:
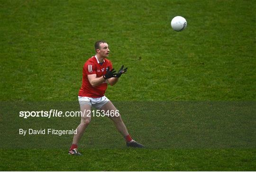
[[[69,154],[82,155],[77,150],[85,128],[91,122],[91,106],[99,109],[103,114],[112,114],[108,117],[114,122],[120,134],[125,138],[128,147],[144,148],[144,145],[137,143],[129,135],[125,124],[112,102],[104,95],[108,83],[113,86],[119,77],[127,71],[124,66],[118,72],[113,69],[112,63],[107,59],[110,53],[109,45],[105,41],[95,43],[96,55],[89,58],[82,70],[82,87],[78,93],[80,109],[82,111],[81,123],[76,128],[77,134],[73,137],[73,144]]]

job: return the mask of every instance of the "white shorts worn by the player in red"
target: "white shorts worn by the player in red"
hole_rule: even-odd
[[[100,98],[80,97],[80,96],[78,96],[78,101],[79,101],[80,107],[82,105],[91,105],[96,109],[101,109],[101,107],[103,105],[105,105],[110,100],[106,96],[102,96]]]

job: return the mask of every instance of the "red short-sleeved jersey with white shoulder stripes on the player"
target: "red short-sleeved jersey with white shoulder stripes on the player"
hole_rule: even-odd
[[[90,59],[88,59],[83,65],[82,87],[79,90],[78,96],[91,98],[99,98],[104,96],[108,87],[106,81],[97,87],[92,87],[87,75],[96,74],[97,77],[101,77],[106,74],[107,68],[108,70],[111,70],[112,63],[106,58],[104,59],[103,63],[100,63],[95,56],[92,56]]]

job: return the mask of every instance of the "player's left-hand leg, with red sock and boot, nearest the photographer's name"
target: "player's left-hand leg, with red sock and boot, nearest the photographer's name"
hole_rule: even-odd
[[[91,105],[82,105],[80,109],[82,112],[81,122],[79,126],[76,128],[76,134],[73,137],[73,144],[70,147],[69,154],[81,155],[77,151],[77,144],[80,141],[84,133],[84,130],[86,129],[86,127],[88,127],[88,125],[91,122]]]

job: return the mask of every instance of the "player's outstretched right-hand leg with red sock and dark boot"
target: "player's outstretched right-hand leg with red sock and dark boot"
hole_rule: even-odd
[[[109,110],[109,114],[110,112],[117,112],[116,107],[113,105],[113,103],[111,101],[108,101],[108,103],[106,103],[105,105],[103,105],[101,107],[101,110],[104,110],[105,113]],[[116,113],[115,113],[116,114]],[[127,146],[128,147],[140,147],[143,148],[144,145],[141,145],[137,142],[135,142],[131,136],[129,135],[127,128],[121,118],[121,115],[114,115],[114,117],[109,117],[115,124],[116,128],[118,129],[119,133],[121,133],[122,136],[124,136],[124,138],[126,139],[127,142]]]

